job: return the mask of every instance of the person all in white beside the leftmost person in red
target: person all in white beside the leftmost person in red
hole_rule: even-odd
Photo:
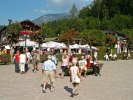
[[[25,64],[26,64],[26,54],[22,52],[20,54],[20,61],[19,61],[19,66],[20,66],[20,72],[25,73]]]

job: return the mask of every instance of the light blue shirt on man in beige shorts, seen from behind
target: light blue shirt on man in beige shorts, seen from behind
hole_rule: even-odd
[[[56,69],[56,65],[52,60],[47,60],[44,62],[42,69],[45,71],[54,71]]]

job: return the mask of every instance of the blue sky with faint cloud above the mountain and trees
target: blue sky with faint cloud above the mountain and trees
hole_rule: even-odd
[[[78,9],[93,0],[0,0],[0,25],[7,25],[8,19],[34,20],[44,14],[69,12],[72,5]]]

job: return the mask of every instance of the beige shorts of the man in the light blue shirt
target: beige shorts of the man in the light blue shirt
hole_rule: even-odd
[[[54,71],[45,71],[43,75],[43,81],[54,82],[55,81]]]

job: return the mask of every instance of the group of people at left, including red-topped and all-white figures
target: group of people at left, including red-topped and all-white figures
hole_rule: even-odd
[[[40,54],[39,50],[33,50],[31,53],[28,50],[17,51],[14,55],[15,72],[25,74],[28,71],[28,64],[32,62],[33,72],[39,71]]]

